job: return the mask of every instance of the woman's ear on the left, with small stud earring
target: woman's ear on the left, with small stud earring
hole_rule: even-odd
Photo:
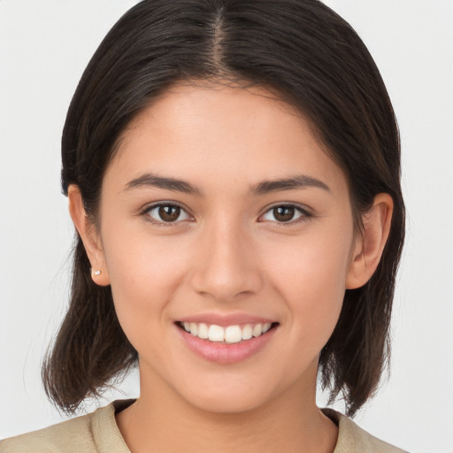
[[[67,190],[67,196],[71,219],[73,219],[73,224],[81,236],[91,264],[91,278],[97,285],[110,285],[102,242],[96,232],[96,226],[88,219],[78,186],[71,184]]]

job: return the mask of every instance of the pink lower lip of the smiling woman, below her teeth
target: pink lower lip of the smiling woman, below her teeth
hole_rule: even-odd
[[[188,346],[188,349],[209,362],[217,362],[223,365],[236,364],[254,356],[273,338],[273,334],[277,330],[276,327],[273,327],[265,334],[250,338],[250,340],[228,344],[203,340],[195,335],[188,334],[188,332],[182,330],[179,326],[175,327],[178,329],[178,333]]]

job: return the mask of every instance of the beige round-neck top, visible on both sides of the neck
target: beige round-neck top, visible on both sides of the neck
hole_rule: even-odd
[[[0,441],[0,453],[130,453],[115,420],[115,413],[130,403],[115,401],[91,414]],[[341,413],[323,411],[338,423],[334,453],[404,453],[366,433]]]

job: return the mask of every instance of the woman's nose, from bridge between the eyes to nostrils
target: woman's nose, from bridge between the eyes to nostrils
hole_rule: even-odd
[[[192,288],[203,296],[229,302],[255,294],[263,284],[250,233],[240,222],[219,220],[206,226],[196,250]]]

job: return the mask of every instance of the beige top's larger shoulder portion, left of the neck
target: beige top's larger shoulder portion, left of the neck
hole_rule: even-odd
[[[115,421],[121,402],[33,433],[0,441],[0,453],[129,453]]]

